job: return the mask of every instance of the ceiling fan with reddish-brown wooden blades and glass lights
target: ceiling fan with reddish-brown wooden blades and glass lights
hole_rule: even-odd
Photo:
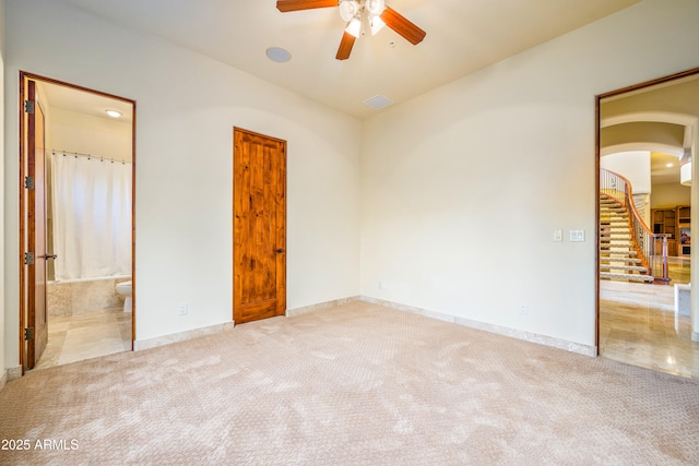
[[[337,60],[350,58],[354,41],[362,34],[365,21],[371,34],[378,33],[383,26],[389,26],[413,45],[423,41],[427,34],[399,12],[387,7],[384,0],[276,0],[276,8],[282,13],[330,7],[339,7],[340,15],[347,22],[347,28],[342,35],[335,56]]]

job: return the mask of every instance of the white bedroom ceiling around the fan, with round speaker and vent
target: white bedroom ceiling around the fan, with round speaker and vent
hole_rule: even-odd
[[[169,39],[357,118],[376,95],[402,103],[639,0],[389,0],[427,32],[413,46],[388,27],[335,60],[336,8],[281,13],[275,0],[63,0]],[[394,43],[391,47],[390,44]],[[292,53],[270,61],[269,47]]]

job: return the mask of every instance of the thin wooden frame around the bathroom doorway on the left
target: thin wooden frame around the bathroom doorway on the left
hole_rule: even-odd
[[[132,119],[131,119],[131,350],[133,350],[133,340],[135,339],[135,100],[120,97],[114,94],[108,94],[102,91],[91,89],[88,87],[79,86],[76,84],[67,83],[63,81],[58,81],[52,77],[43,76],[39,74],[29,73],[26,71],[20,71],[20,96],[19,96],[19,117],[20,117],[20,182],[19,182],[19,191],[20,191],[20,248],[17,254],[17,266],[19,266],[19,277],[20,277],[20,331],[19,331],[19,346],[20,346],[20,366],[22,367],[22,374],[24,375],[24,308],[26,306],[24,299],[24,286],[26,282],[25,271],[24,271],[24,235],[26,234],[26,223],[25,223],[25,206],[26,206],[26,195],[24,189],[24,166],[25,166],[25,122],[24,122],[24,93],[25,93],[25,80],[37,81],[42,83],[55,84],[63,87],[69,87],[74,91],[85,92],[90,94],[99,95],[103,97],[109,97],[116,100],[121,100],[127,104],[130,104],[132,107]],[[48,312],[48,311],[47,311]]]

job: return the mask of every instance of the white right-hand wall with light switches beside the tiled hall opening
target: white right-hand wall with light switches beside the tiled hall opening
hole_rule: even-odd
[[[595,95],[699,65],[698,23],[647,0],[367,121],[362,294],[594,345]]]

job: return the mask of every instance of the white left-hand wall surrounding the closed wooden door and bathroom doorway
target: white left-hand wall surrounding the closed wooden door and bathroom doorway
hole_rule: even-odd
[[[5,254],[19,249],[24,70],[137,101],[138,340],[232,321],[234,126],[288,142],[288,308],[358,295],[358,120],[63,2],[7,1],[7,32]],[[8,366],[19,363],[16,270],[4,264]]]

